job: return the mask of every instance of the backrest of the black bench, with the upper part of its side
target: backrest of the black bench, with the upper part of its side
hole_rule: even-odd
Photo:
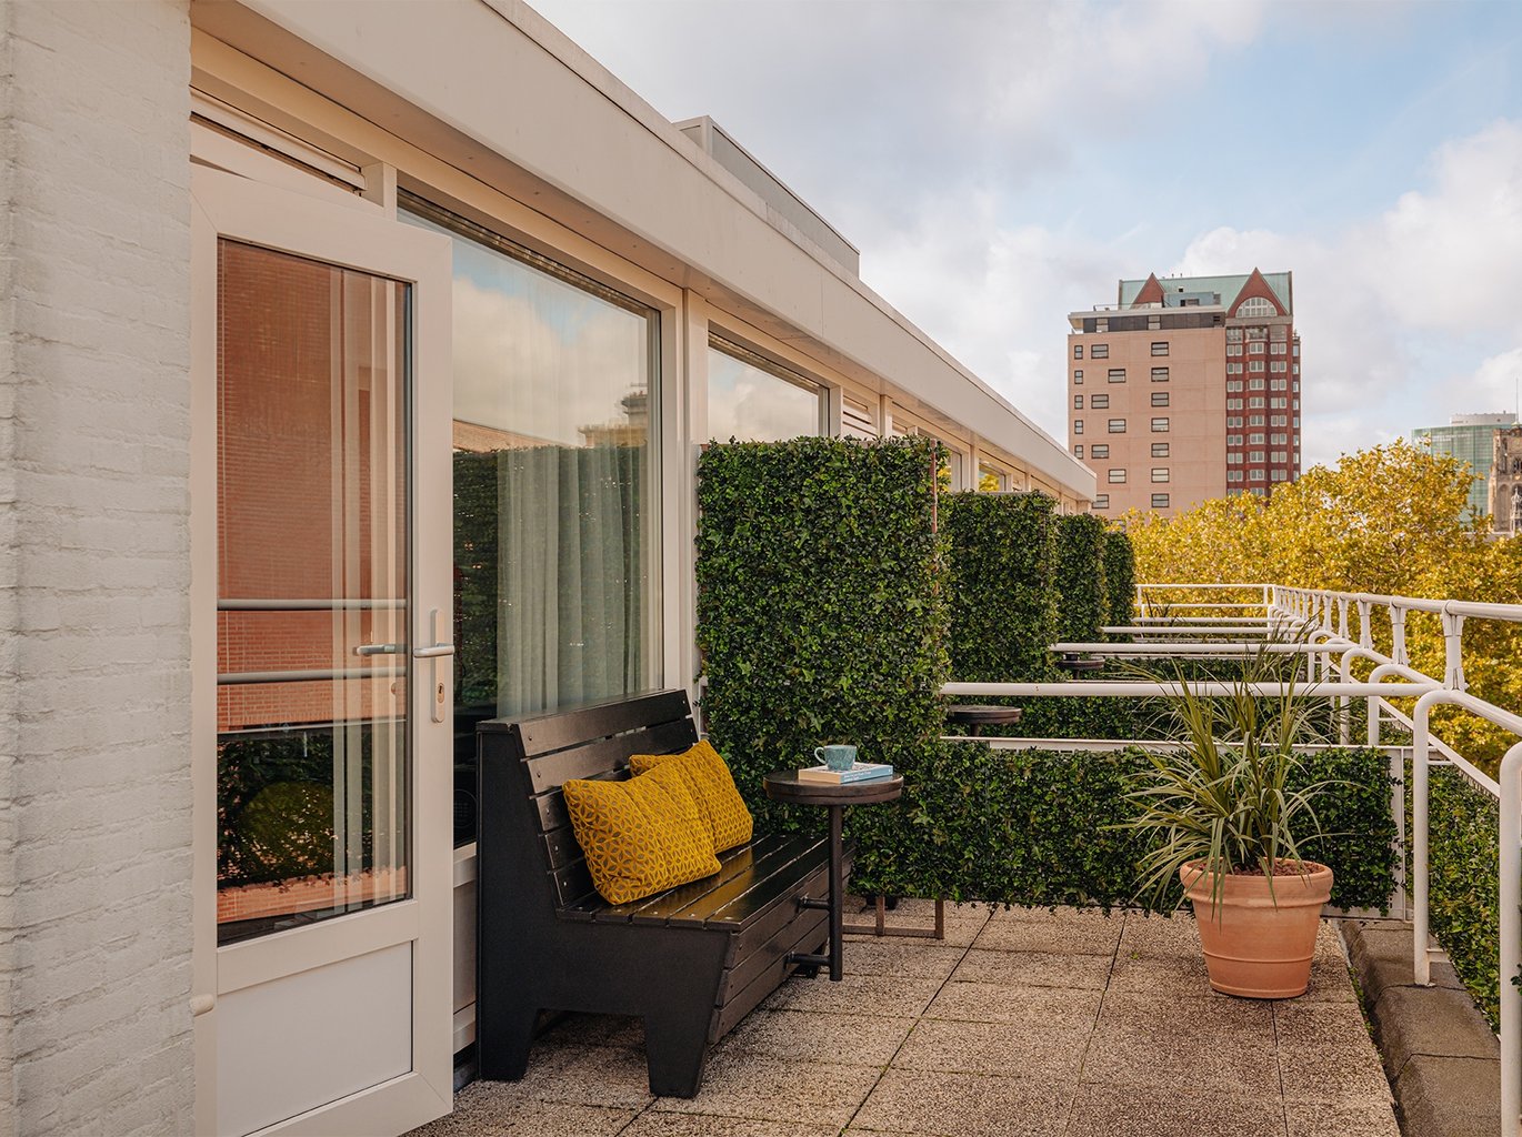
[[[674,753],[697,741],[685,691],[658,691],[478,729],[481,897],[517,893],[562,909],[592,892],[566,813],[571,778],[629,776],[633,753]],[[508,880],[513,878],[513,880]]]

